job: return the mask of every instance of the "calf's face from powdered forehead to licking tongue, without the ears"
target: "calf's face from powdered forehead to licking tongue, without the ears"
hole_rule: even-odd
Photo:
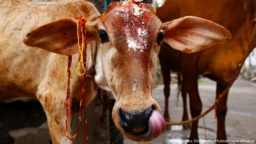
[[[154,139],[165,129],[152,95],[162,23],[151,5],[133,1],[110,4],[98,21],[102,70],[116,95],[113,121],[133,140]]]

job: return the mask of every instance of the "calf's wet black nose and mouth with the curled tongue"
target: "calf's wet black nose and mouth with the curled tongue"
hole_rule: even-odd
[[[119,123],[125,134],[133,140],[153,140],[165,130],[161,113],[150,107],[141,113],[131,114],[119,110]]]

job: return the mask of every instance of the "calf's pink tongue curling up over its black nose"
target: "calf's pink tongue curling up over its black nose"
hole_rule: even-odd
[[[138,135],[146,140],[153,140],[165,131],[165,119],[158,111],[153,110],[148,122],[148,131],[138,133]]]

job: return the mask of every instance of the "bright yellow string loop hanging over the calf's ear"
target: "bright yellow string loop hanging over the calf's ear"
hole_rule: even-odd
[[[78,74],[78,75],[80,75],[80,76],[82,76],[82,75],[84,75],[84,73],[85,73],[85,68],[84,68],[84,60],[83,60],[83,50],[84,50],[84,46],[85,46],[85,40],[84,40],[84,36],[83,36],[83,28],[82,28],[82,46],[80,46],[80,44],[79,44],[79,29],[78,29],[78,24],[79,24],[79,20],[77,19],[77,25],[76,25],[76,27],[77,27],[77,37],[78,37],[78,47],[79,47],[79,54],[80,54],[80,61],[79,61],[79,64],[78,64],[78,67],[76,68],[76,73]],[[87,26],[87,22],[85,22],[85,27]],[[84,30],[84,34],[86,34],[86,30]],[[78,70],[79,70],[79,67],[80,67],[80,65],[82,65],[82,67],[83,67],[83,73],[82,74],[80,74],[79,72],[78,72]]]

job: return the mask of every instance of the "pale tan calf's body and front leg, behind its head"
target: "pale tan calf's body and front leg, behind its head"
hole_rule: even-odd
[[[38,99],[46,112],[53,143],[71,143],[64,129],[68,57],[28,47],[22,39],[32,29],[53,20],[82,15],[93,20],[99,12],[93,4],[82,0],[2,0],[0,5],[0,101],[18,97]],[[87,48],[88,67],[92,66],[91,53],[94,54],[95,45],[96,42],[90,43]],[[82,89],[82,79],[76,74],[77,65],[78,54],[74,54],[70,84],[74,112],[78,110]],[[85,93],[88,105],[96,95],[93,81],[87,79]]]

